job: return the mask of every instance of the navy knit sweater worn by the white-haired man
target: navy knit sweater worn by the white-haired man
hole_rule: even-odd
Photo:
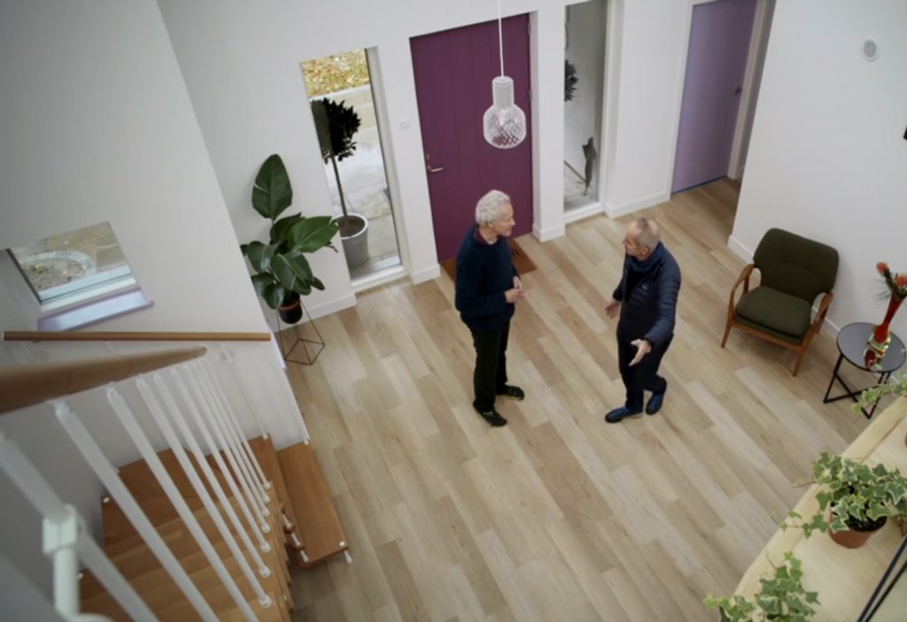
[[[513,257],[507,238],[494,244],[476,239],[473,225],[456,254],[454,304],[470,330],[498,330],[513,317],[513,303],[504,292],[513,287]]]

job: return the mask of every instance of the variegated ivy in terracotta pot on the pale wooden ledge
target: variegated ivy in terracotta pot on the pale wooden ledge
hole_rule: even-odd
[[[798,527],[806,537],[813,531],[828,531],[832,540],[849,549],[863,546],[889,517],[907,515],[907,477],[884,464],[869,466],[841,455],[823,452],[813,463],[813,483],[819,511],[808,521],[797,512],[788,513],[782,529]]]

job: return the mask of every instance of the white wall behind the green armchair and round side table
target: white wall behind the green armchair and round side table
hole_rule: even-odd
[[[882,320],[876,262],[907,272],[905,25],[901,0],[775,6],[729,245],[748,260],[778,226],[837,248],[836,328]],[[863,60],[867,38],[875,62]],[[892,328],[907,339],[907,312]]]

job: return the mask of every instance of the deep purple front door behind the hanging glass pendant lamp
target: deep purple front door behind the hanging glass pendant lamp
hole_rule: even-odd
[[[529,16],[502,24],[504,73],[518,106],[529,110]],[[415,95],[425,150],[438,261],[456,254],[475,222],[475,203],[496,188],[511,196],[513,236],[532,231],[532,137],[512,149],[483,138],[482,116],[492,105],[492,79],[501,73],[498,23],[487,22],[414,37]],[[434,169],[434,172],[432,172]]]

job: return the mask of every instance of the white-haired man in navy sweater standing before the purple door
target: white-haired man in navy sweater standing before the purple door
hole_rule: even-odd
[[[475,223],[456,254],[454,302],[473,333],[473,407],[492,426],[505,426],[495,397],[525,397],[522,388],[507,384],[510,321],[515,303],[526,297],[507,243],[515,224],[510,196],[492,190],[479,199]]]

